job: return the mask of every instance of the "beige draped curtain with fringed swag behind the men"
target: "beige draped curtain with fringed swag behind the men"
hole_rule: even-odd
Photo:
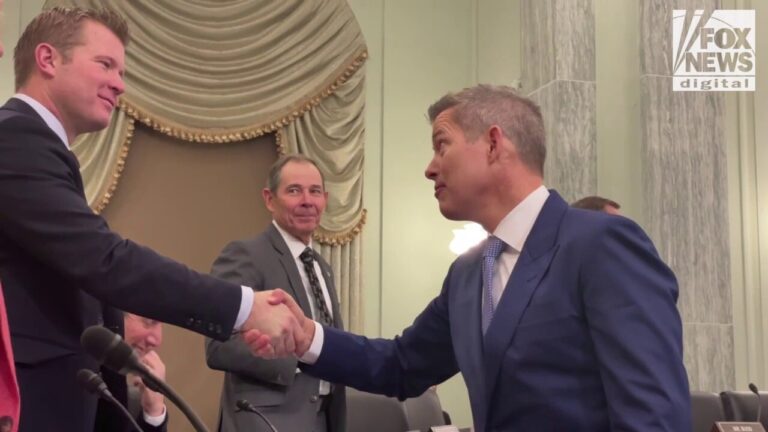
[[[126,18],[126,92],[110,126],[81,137],[88,202],[118,192],[135,122],[221,145],[276,134],[278,151],[314,158],[328,208],[316,233],[336,271],[344,319],[362,330],[365,41],[344,0],[48,0]]]

